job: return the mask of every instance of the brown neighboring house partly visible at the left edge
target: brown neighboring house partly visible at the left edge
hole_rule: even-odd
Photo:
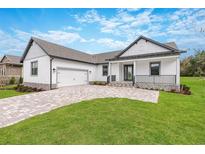
[[[7,84],[12,77],[18,80],[22,76],[21,57],[4,55],[0,60],[0,84]]]

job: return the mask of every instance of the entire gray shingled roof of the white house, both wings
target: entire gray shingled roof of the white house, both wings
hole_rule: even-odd
[[[120,59],[120,55],[122,55],[125,51],[127,51],[133,44],[135,44],[140,39],[145,39],[147,41],[150,41],[152,43],[155,43],[159,46],[162,46],[164,48],[169,49],[173,53],[180,54],[181,52],[184,52],[182,50],[179,50],[174,42],[168,42],[168,43],[160,43],[155,40],[152,40],[150,38],[140,36],[138,37],[134,42],[132,42],[127,48],[124,50],[119,51],[112,51],[112,52],[105,52],[100,54],[88,54],[82,51],[78,51],[72,48],[67,48],[55,43],[51,43],[39,38],[32,37],[25,49],[25,52],[22,56],[21,62],[23,62],[30,46],[32,45],[33,41],[36,42],[39,47],[45,51],[45,53],[54,58],[61,58],[61,59],[67,59],[67,60],[74,60],[74,61],[80,61],[85,63],[91,63],[91,64],[101,64],[101,63],[107,63],[107,60],[116,60]],[[164,53],[162,53],[164,55]],[[156,54],[153,53],[153,55],[143,55],[142,56],[155,56]],[[156,55],[157,56],[157,55]]]

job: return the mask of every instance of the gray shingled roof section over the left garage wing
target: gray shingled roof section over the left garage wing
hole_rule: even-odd
[[[109,57],[114,58],[120,51],[114,52],[105,52],[101,54],[88,54],[82,51],[78,51],[72,48],[67,48],[55,43],[51,43],[39,38],[32,37],[26,47],[26,50],[22,56],[21,61],[24,60],[31,44],[36,42],[39,47],[45,51],[45,53],[54,58],[61,58],[61,59],[68,59],[68,60],[75,60],[80,62],[86,62],[91,64],[99,64],[99,63],[107,63],[106,59]]]

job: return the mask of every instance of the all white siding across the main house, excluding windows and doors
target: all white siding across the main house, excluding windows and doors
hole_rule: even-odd
[[[131,47],[123,56],[140,54],[142,51],[148,52],[164,52],[165,49],[145,40],[140,40],[137,45]],[[31,75],[31,62],[38,61],[38,75]],[[150,75],[150,62],[160,61],[160,75],[176,75],[177,84],[180,83],[180,62],[179,56],[175,57],[155,57],[148,59],[135,59],[129,61],[111,62],[111,75],[116,75],[116,81],[123,81],[123,65],[134,64],[136,62],[136,75]],[[52,70],[55,68],[73,68],[88,70],[89,81],[107,81],[107,76],[102,75],[102,64],[94,65],[70,60],[54,58],[52,62]],[[109,72],[110,73],[110,72]],[[36,44],[33,43],[27,53],[23,63],[24,82],[50,84],[50,57]],[[57,71],[52,71],[52,83],[56,84]]]

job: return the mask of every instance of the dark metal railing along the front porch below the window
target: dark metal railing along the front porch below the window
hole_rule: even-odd
[[[176,84],[176,75],[136,75],[135,83]]]

